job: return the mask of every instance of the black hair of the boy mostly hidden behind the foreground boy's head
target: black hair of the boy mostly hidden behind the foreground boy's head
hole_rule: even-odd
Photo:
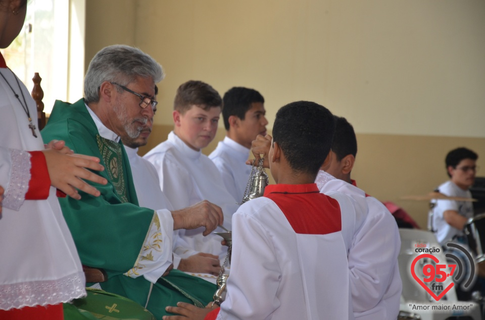
[[[354,127],[344,117],[334,115],[335,136],[333,136],[332,151],[337,156],[337,161],[341,161],[347,155],[357,155],[357,138],[355,137]]]

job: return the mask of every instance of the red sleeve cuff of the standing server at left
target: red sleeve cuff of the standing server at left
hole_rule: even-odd
[[[49,197],[51,178],[47,170],[47,162],[42,151],[30,151],[30,180],[29,189],[25,194],[26,200],[43,200]]]

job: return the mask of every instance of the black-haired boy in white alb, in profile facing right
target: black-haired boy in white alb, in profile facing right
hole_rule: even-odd
[[[263,96],[254,89],[233,87],[223,98],[222,117],[226,137],[209,155],[217,169],[227,191],[240,202],[251,174],[251,166],[246,164],[251,143],[258,135],[266,135]]]

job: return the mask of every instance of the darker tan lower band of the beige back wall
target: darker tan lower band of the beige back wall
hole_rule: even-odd
[[[140,148],[139,154],[143,155],[165,141],[171,130],[171,125],[155,125],[149,144]],[[203,152],[210,154],[224,134],[219,130]],[[357,134],[357,143],[359,150],[352,178],[358,186],[380,201],[396,203],[422,228],[426,228],[428,203],[402,200],[401,197],[426,195],[446,181],[445,156],[448,151],[461,146],[471,148],[481,155],[477,164],[485,170],[484,138]],[[485,176],[483,170],[478,175]]]

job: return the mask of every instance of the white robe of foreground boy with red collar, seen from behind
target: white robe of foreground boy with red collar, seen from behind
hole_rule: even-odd
[[[352,207],[334,196],[344,210]],[[232,267],[217,319],[353,319],[340,231],[298,233],[266,197],[241,205],[232,224]]]

